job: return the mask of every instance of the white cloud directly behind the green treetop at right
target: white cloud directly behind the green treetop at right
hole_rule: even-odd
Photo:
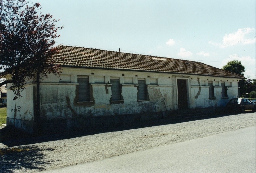
[[[241,64],[245,67],[245,72],[243,73],[245,77],[251,76],[251,78],[255,78],[255,59],[250,56],[240,57],[237,54],[229,55],[228,58],[222,61],[219,68],[222,69],[224,65],[233,60],[241,61]]]

